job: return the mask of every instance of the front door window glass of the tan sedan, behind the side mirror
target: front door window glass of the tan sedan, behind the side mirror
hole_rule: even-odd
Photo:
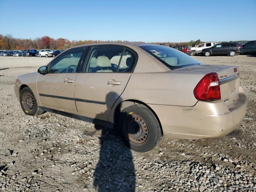
[[[75,73],[84,48],[73,49],[50,64],[49,73]]]

